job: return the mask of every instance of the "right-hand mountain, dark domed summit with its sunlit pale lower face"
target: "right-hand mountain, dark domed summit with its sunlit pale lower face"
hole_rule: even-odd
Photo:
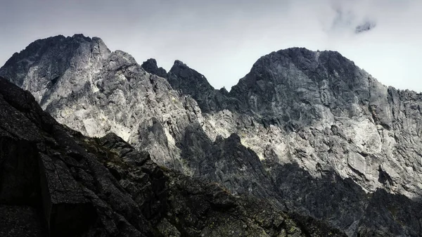
[[[340,53],[273,52],[228,94],[208,93],[218,105],[204,114],[212,139],[237,133],[262,160],[298,162],[315,177],[333,169],[369,192],[421,192],[421,95],[383,86]]]

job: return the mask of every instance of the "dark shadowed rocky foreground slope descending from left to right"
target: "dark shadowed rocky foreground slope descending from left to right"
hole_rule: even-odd
[[[1,236],[345,236],[85,137],[2,77],[0,108]]]

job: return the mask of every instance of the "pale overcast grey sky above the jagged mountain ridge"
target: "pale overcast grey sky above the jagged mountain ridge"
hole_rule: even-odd
[[[260,56],[303,46],[339,51],[383,84],[422,91],[422,0],[0,0],[0,65],[36,39],[75,33],[140,64],[155,58],[170,70],[182,60],[217,89]]]

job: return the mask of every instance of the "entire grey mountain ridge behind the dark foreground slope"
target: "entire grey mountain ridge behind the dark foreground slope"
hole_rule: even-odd
[[[77,34],[35,41],[0,75],[71,129],[113,132],[234,195],[348,236],[421,236],[421,94],[338,52],[269,53],[226,91],[179,60],[166,72]]]

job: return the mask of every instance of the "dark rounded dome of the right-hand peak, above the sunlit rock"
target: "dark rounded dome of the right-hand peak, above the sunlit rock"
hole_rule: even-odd
[[[257,60],[230,96],[243,113],[252,110],[270,124],[295,127],[321,120],[326,110],[335,116],[358,115],[365,110],[357,109],[360,104],[376,96],[370,94],[371,87],[382,89],[383,94],[387,91],[338,52],[292,48]]]

